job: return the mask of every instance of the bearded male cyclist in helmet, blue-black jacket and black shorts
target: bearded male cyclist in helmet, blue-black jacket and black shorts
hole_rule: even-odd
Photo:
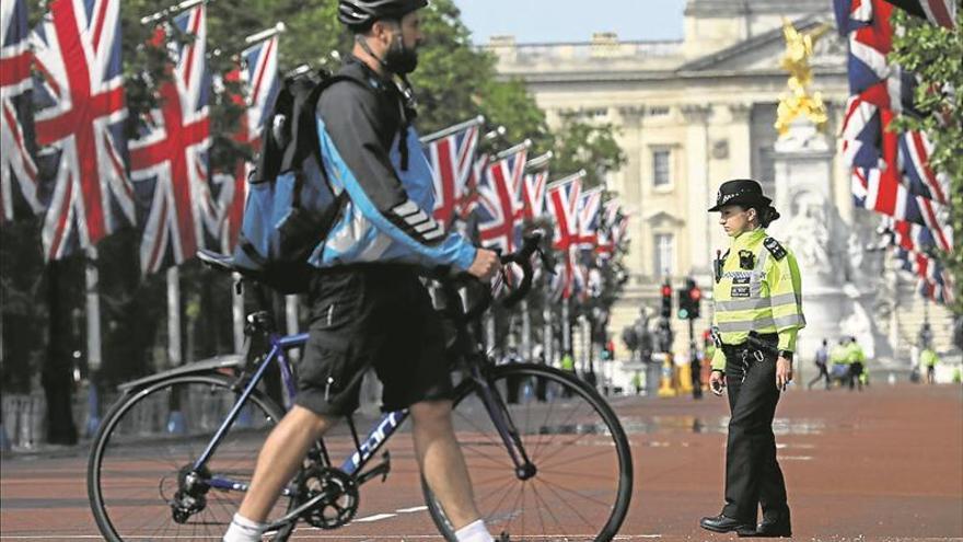
[[[460,541],[491,541],[474,504],[451,423],[452,383],[442,326],[418,266],[450,265],[489,280],[495,252],[446,234],[431,217],[432,177],[410,127],[406,74],[418,64],[418,10],[427,0],[339,0],[353,33],[351,57],[317,105],[324,168],[347,191],[339,220],[314,251],[312,323],[299,366],[298,397],[257,459],[250,491],[224,535],[259,541],[262,523],[311,445],[358,406],[373,366],[383,407],[408,407],[415,452]]]

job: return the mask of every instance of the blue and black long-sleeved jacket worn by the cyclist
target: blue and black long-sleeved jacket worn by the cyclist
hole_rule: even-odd
[[[431,216],[431,169],[415,130],[402,129],[401,93],[357,60],[340,73],[353,81],[335,82],[322,93],[317,130],[332,187],[336,194],[347,191],[348,200],[309,262],[315,267],[384,262],[467,269],[476,249],[457,233],[445,234],[444,224]],[[402,168],[402,134],[407,170]]]

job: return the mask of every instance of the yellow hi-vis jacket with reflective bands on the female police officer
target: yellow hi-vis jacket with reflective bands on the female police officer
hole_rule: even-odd
[[[749,332],[776,333],[780,350],[796,350],[796,336],[805,327],[802,279],[796,256],[758,228],[732,240],[721,276],[712,288],[712,326],[722,344],[739,345]],[[723,369],[717,349],[712,369]]]

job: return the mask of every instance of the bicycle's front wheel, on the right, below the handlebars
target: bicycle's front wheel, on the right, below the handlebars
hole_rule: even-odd
[[[517,475],[474,382],[460,385],[452,419],[488,529],[513,540],[611,540],[628,511],[633,462],[608,404],[569,373],[541,365],[501,366],[489,381],[537,472]],[[454,541],[424,478],[422,489],[439,530]]]

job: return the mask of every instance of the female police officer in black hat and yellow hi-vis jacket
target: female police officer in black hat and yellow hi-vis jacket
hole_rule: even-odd
[[[796,256],[766,235],[779,218],[751,180],[728,181],[719,188],[719,223],[732,239],[716,261],[712,391],[729,388],[729,440],[726,451],[726,506],[700,526],[740,535],[791,534],[786,484],[776,461],[773,416],[779,392],[792,380],[796,335],[805,326]],[[753,347],[750,332],[771,348]],[[756,336],[756,335],[753,336]],[[778,355],[776,350],[778,349]],[[762,505],[763,521],[756,524]]]

